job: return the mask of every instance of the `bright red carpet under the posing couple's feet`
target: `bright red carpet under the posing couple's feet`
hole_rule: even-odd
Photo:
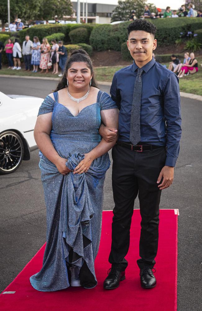
[[[134,210],[131,243],[126,259],[129,262],[126,280],[116,290],[103,290],[103,281],[110,267],[112,211],[103,211],[103,227],[99,254],[95,262],[98,285],[94,289],[80,287],[39,292],[30,285],[29,277],[42,265],[45,244],[0,295],[2,311],[176,311],[177,310],[177,210],[160,210],[159,247],[156,257],[157,285],[140,287],[139,258],[140,211]]]

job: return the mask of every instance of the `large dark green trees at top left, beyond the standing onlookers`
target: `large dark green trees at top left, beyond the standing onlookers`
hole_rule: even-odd
[[[7,0],[1,0],[0,20],[2,28],[8,21]],[[53,19],[55,15],[62,18],[63,15],[72,14],[70,0],[11,0],[11,21],[20,17],[23,22],[36,19]]]

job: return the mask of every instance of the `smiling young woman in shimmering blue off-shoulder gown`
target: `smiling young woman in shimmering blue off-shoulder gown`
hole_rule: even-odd
[[[34,129],[47,209],[43,266],[30,277],[36,290],[97,285],[103,185],[108,151],[116,142],[101,138],[101,122],[116,131],[117,106],[96,87],[89,55],[74,51],[57,89],[42,103]]]

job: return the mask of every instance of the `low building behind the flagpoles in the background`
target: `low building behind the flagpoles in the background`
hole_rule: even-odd
[[[76,12],[76,1],[71,1],[74,11]],[[115,9],[114,4],[88,3],[88,23],[110,24],[112,11]],[[83,1],[80,1],[80,19],[83,16]]]

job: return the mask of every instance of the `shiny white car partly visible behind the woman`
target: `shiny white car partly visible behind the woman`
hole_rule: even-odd
[[[37,148],[34,125],[43,98],[0,92],[0,174],[14,172]]]

